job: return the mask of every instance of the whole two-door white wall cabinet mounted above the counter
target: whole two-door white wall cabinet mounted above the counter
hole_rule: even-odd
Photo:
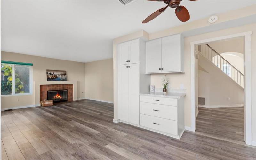
[[[146,42],[146,73],[184,72],[181,34]]]

